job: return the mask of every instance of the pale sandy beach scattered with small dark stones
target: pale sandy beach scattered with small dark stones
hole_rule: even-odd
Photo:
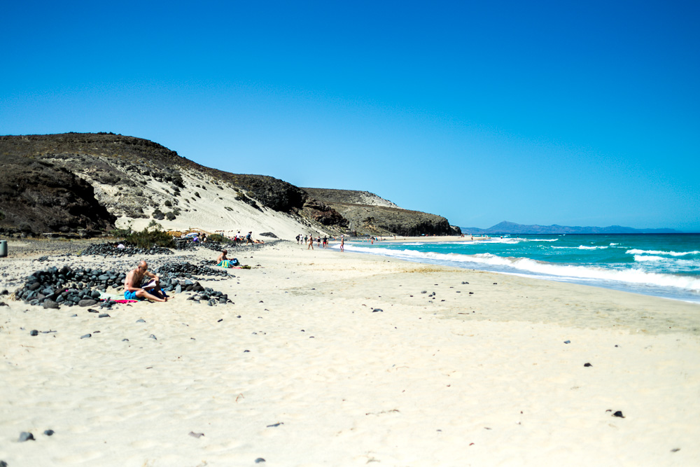
[[[59,256],[74,245],[0,258],[0,291],[141,259]],[[200,279],[225,305],[181,293],[99,318],[0,295],[0,461],[700,463],[700,305],[293,242],[231,253],[252,269]]]

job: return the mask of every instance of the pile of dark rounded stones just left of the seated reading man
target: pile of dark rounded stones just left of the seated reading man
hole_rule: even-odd
[[[126,274],[99,269],[61,269],[52,266],[47,270],[36,271],[27,277],[25,286],[15,292],[29,305],[43,305],[45,308],[57,308],[59,305],[80,305],[89,307],[98,303],[100,291],[107,287],[120,287],[124,284]],[[111,307],[115,302],[104,302],[102,306]]]

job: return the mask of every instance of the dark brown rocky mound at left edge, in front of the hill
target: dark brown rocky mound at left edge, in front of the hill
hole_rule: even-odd
[[[0,154],[0,228],[5,232],[76,232],[114,228],[89,183],[43,160]]]

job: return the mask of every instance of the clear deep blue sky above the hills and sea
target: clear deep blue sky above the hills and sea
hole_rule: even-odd
[[[0,134],[507,220],[700,232],[696,1],[6,2]]]

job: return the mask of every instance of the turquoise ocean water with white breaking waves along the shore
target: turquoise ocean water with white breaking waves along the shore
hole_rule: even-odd
[[[345,249],[700,303],[700,234],[504,235],[474,239],[373,245],[346,242]]]

